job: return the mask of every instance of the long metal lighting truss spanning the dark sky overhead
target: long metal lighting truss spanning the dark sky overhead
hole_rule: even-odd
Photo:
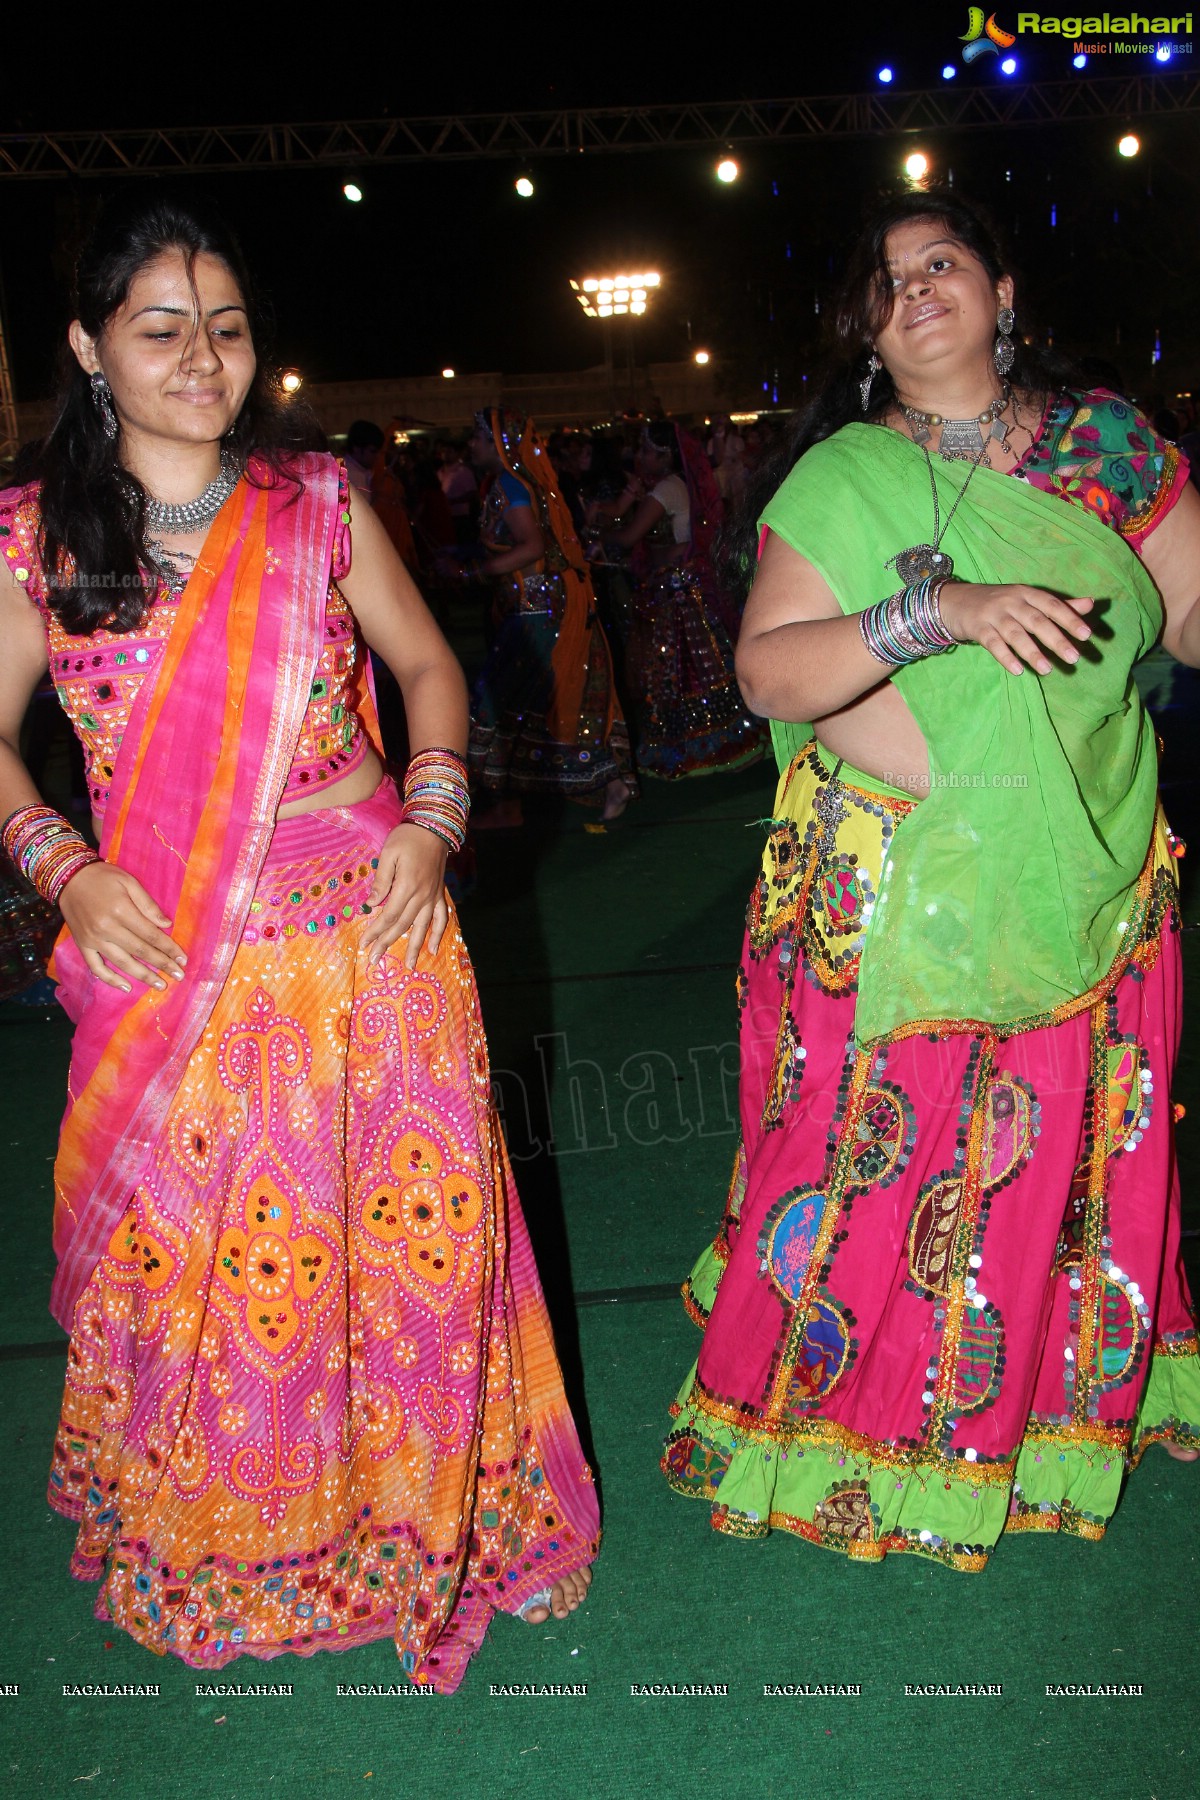
[[[817,94],[808,99],[461,113],[437,119],[336,119],[320,124],[130,126],[115,131],[7,131],[0,180],[121,175],[225,175],[248,169],[365,167],[723,149],[828,137],[986,131],[1083,119],[1200,112],[1200,74]]]

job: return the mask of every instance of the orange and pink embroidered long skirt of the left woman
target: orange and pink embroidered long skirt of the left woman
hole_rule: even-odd
[[[398,821],[390,783],[281,821],[76,1309],[50,1505],[148,1649],[390,1636],[450,1692],[493,1611],[590,1562],[597,1507],[457,920],[414,972],[360,954]]]

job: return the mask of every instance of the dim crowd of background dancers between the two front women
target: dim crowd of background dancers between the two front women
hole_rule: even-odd
[[[763,754],[734,675],[739,605],[712,562],[725,495],[739,493],[734,446],[745,481],[765,432],[747,439],[721,419],[705,439],[640,418],[547,437],[506,409],[466,441],[351,425],[351,479],[376,508],[383,486],[398,497],[392,540],[437,616],[450,621],[464,587],[484,592],[477,830],[522,824],[538,794],[597,805],[608,823],[639,776]]]

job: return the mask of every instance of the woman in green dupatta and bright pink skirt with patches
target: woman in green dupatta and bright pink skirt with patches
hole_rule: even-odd
[[[1178,904],[1133,664],[1200,664],[1200,495],[1063,389],[957,196],[858,247],[738,675],[781,763],[741,1145],[667,1480],[718,1530],[984,1566],[1200,1453]],[[898,592],[900,590],[900,592]]]

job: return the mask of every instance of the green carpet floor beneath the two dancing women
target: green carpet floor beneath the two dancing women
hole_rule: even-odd
[[[291,1681],[293,1697],[205,1699],[182,1663],[92,1618],[92,1591],[67,1575],[72,1530],[43,1499],[63,1375],[45,1300],[67,1030],[54,1015],[0,1010],[0,1685],[20,1687],[0,1694],[5,1793],[1200,1791],[1200,1467],[1151,1451],[1103,1543],[1015,1537],[979,1577],[907,1557],[858,1568],[783,1534],[730,1543],[658,1476],[666,1408],[698,1343],[676,1287],[720,1213],[734,1150],[732,967],[754,821],[768,808],[770,776],[757,769],[649,787],[604,833],[567,808],[480,842],[462,918],[606,1537],[587,1607],[565,1625],[498,1618],[453,1699],[338,1697],[338,1683],[396,1681],[389,1645],[234,1665],[227,1679]],[[1195,934],[1186,950],[1195,986]],[[1198,1087],[1193,1055],[1180,1087],[1193,1195]],[[1195,1206],[1187,1224],[1200,1224]],[[79,1681],[158,1681],[162,1692],[63,1697],[61,1685]],[[588,1692],[489,1692],[518,1683]],[[727,1683],[729,1694],[639,1697],[630,1687],[640,1683]],[[853,1683],[862,1696],[765,1696],[774,1683]],[[905,1683],[1004,1692],[919,1697]],[[1047,1683],[1144,1692],[1047,1697]]]

